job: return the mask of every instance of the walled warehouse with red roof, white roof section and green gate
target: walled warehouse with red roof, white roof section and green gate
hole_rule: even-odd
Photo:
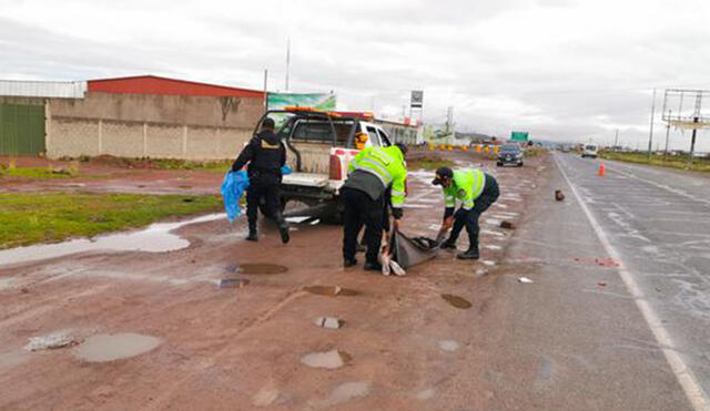
[[[262,91],[153,75],[0,81],[0,155],[231,158],[263,112]]]

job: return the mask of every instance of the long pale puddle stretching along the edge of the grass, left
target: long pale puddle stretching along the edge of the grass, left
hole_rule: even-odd
[[[0,251],[0,266],[63,257],[85,251],[173,251],[186,248],[190,246],[190,242],[176,234],[172,234],[172,230],[190,224],[212,222],[220,218],[224,218],[224,214],[209,214],[176,223],[155,223],[145,229],[131,233],[118,233],[93,238],[72,239],[64,243],[11,248]]]

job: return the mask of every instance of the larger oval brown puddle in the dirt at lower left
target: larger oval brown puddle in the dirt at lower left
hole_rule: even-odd
[[[74,356],[87,362],[109,362],[140,356],[161,343],[160,338],[132,332],[97,335],[74,348]]]

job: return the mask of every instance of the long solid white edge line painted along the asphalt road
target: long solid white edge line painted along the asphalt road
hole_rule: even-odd
[[[648,327],[651,329],[651,332],[653,332],[653,337],[656,337],[656,341],[658,342],[659,347],[661,347],[661,351],[663,352],[666,360],[668,361],[671,370],[673,371],[673,374],[676,374],[676,379],[678,379],[678,383],[680,384],[680,387],[682,387],[686,393],[686,397],[690,401],[692,408],[696,410],[710,410],[710,401],[706,397],[706,393],[702,390],[702,387],[700,386],[700,383],[698,382],[698,379],[696,378],[694,373],[692,372],[690,367],[686,364],[680,353],[672,348],[672,347],[676,347],[676,343],[673,342],[673,339],[670,337],[670,332],[668,332],[668,330],[663,327],[661,319],[658,317],[658,315],[656,314],[651,305],[643,297],[643,292],[641,292],[641,288],[639,287],[638,282],[633,278],[633,275],[626,268],[626,264],[621,259],[621,256],[619,255],[619,253],[616,250],[616,248],[613,248],[613,246],[609,242],[607,235],[601,228],[601,225],[599,225],[599,222],[597,222],[595,216],[591,214],[591,210],[589,209],[589,207],[587,207],[587,204],[582,202],[581,196],[579,195],[579,193],[577,192],[577,188],[572,185],[571,181],[567,176],[567,173],[565,172],[556,154],[554,154],[554,158],[555,158],[555,163],[557,163],[557,167],[562,174],[562,177],[565,177],[565,181],[567,182],[572,194],[577,198],[577,202],[579,203],[580,207],[587,215],[587,218],[589,219],[589,223],[595,229],[595,233],[597,234],[597,237],[599,238],[599,242],[604,246],[605,250],[607,251],[609,257],[619,261],[619,267],[618,267],[619,276],[621,277],[621,280],[623,280],[623,284],[626,285],[626,288],[631,295],[631,297],[633,297],[633,301],[636,302],[636,306],[639,308],[639,311],[641,311],[641,315],[643,316],[646,323],[648,323]],[[651,184],[656,185],[656,183],[651,183]]]

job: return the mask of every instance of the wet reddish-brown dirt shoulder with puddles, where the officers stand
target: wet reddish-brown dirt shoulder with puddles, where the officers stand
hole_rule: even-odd
[[[460,165],[481,163],[452,155]],[[499,224],[524,224],[550,161],[484,163],[501,197],[481,218],[479,261],[440,251],[405,277],[385,277],[363,271],[362,255],[357,267],[342,267],[341,227],[297,224],[282,245],[266,223],[255,244],[244,240],[244,220],[217,219],[179,228],[190,242],[179,250],[0,266],[0,409],[491,409],[495,391],[470,376],[486,364],[489,338],[509,316],[495,301],[510,275],[499,264],[516,230]],[[440,224],[432,174],[410,173],[406,234],[433,237]],[[254,269],[274,264],[287,270]],[[230,278],[250,281],[220,288]],[[314,286],[353,292],[310,292]],[[324,316],[344,326],[314,323]],[[77,345],[22,348],[58,330]],[[92,336],[126,333],[160,345],[108,362],[77,355]]]

